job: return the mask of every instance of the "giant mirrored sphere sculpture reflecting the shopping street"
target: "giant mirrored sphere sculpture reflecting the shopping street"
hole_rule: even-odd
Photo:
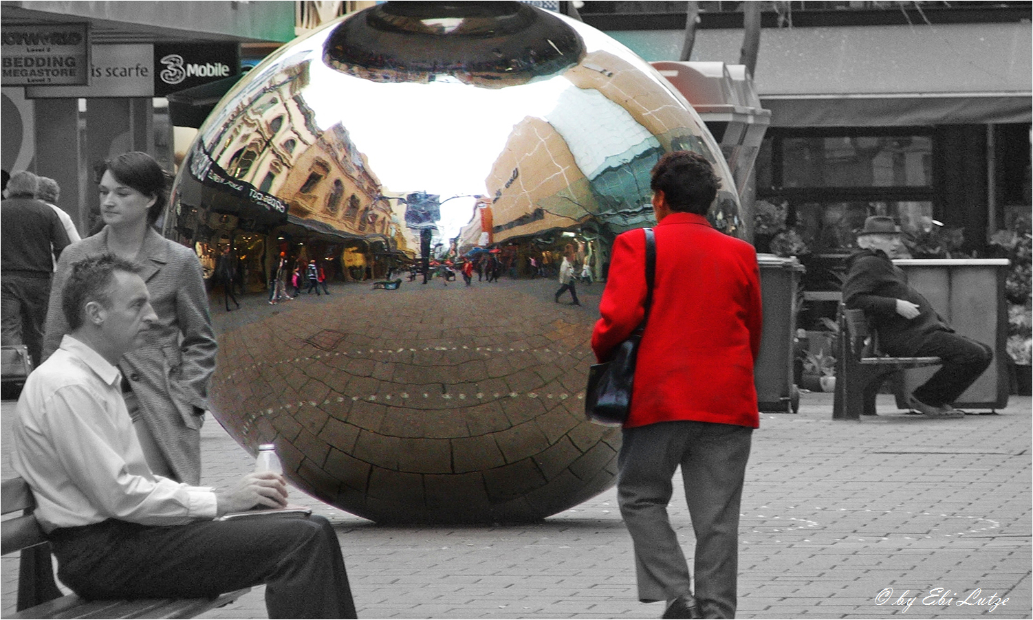
[[[653,223],[650,169],[680,149],[715,163],[711,219],[734,234],[699,118],[578,22],[388,2],[285,45],[200,129],[164,232],[271,302],[295,267],[332,296],[222,333],[214,414],[376,521],[529,521],[599,493],[620,434],[583,412],[597,313],[554,301],[556,267],[603,280],[614,237]],[[467,260],[476,286],[450,279]]]

